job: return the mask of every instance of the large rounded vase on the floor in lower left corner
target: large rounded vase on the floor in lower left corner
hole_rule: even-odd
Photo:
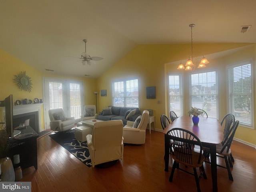
[[[0,159],[0,164],[2,170],[1,182],[14,182],[15,173],[12,166],[12,160],[9,157],[4,157]]]

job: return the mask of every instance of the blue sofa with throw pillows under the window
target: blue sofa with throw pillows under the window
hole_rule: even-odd
[[[136,110],[135,114],[128,116],[129,112]],[[109,120],[122,120],[123,124],[126,125],[127,121],[135,121],[138,116],[140,116],[140,110],[137,107],[116,107],[108,106],[102,110],[98,115],[98,120],[109,121]]]

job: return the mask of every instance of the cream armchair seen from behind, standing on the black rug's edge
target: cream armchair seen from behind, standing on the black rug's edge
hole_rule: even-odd
[[[96,122],[92,134],[86,136],[92,167],[105,162],[123,160],[123,122],[111,120]]]

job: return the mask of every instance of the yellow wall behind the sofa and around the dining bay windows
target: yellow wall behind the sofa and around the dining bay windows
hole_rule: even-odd
[[[247,45],[250,44],[195,44],[193,50],[194,55],[206,55]],[[179,62],[175,65],[168,65],[167,63],[186,59],[190,54],[191,45],[189,44],[150,44],[136,46],[98,78],[98,90],[107,90],[106,97],[99,97],[99,110],[101,111],[102,108],[112,105],[112,81],[125,78],[138,78],[140,110],[152,109],[156,117],[156,129],[162,130],[160,116],[161,114],[168,115],[167,74],[169,72],[180,72],[180,70],[176,70]],[[255,60],[255,55],[255,46],[253,46],[250,50],[241,52],[240,56],[234,54],[222,59],[210,61],[207,64],[207,69],[216,68],[219,71],[220,82],[226,82],[226,74],[225,70],[223,70],[225,65],[239,62],[248,57]],[[188,75],[186,74],[184,74],[184,82],[188,82]],[[148,86],[156,86],[156,99],[146,99],[146,87]],[[185,87],[186,89],[188,87]],[[227,113],[225,91],[226,86],[220,83],[220,118]],[[186,94],[186,97],[188,97],[188,94]],[[222,99],[223,97],[225,100]],[[185,112],[189,108],[187,101],[188,99],[185,102]],[[248,135],[244,134],[244,132],[247,132]],[[255,139],[253,139],[256,138],[256,130],[239,127],[236,137],[256,144]]]

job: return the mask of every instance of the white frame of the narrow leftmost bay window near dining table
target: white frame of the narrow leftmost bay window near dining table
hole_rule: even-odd
[[[181,98],[181,110],[176,110],[175,106],[174,108],[172,108],[171,106],[171,96],[170,96],[170,76],[178,76],[179,77],[179,87],[181,90],[181,94],[178,94],[177,96]],[[176,113],[176,115],[179,116],[183,116],[184,114],[184,86],[183,86],[183,75],[182,74],[178,74],[178,73],[170,73],[168,74],[168,80],[167,80],[167,84],[168,84],[168,107],[169,107],[169,114],[170,111],[174,111]]]

